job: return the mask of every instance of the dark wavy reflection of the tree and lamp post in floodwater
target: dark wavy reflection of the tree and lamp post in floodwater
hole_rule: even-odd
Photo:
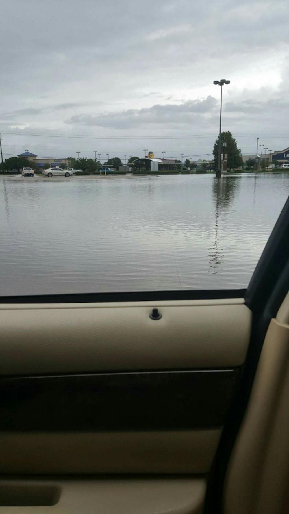
[[[219,218],[222,212],[226,211],[234,198],[236,193],[237,184],[240,181],[236,177],[216,177],[212,183],[212,197],[215,205],[214,213],[214,235],[213,246],[209,248],[209,273],[218,273],[219,268],[222,268],[224,254],[223,250],[219,247]]]

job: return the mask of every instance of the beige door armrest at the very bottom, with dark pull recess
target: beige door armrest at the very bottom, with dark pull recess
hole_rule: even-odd
[[[205,479],[200,478],[3,480],[0,505],[2,488],[6,498],[10,488],[13,498],[21,489],[33,487],[41,501],[49,486],[56,489],[52,506],[0,506],[0,514],[202,514],[206,491]]]

